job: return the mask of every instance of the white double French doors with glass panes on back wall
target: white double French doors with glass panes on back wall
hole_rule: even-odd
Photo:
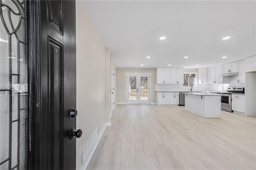
[[[150,74],[127,74],[127,104],[150,104]]]

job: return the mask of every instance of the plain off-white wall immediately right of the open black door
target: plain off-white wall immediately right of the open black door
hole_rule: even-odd
[[[76,139],[76,169],[82,165],[79,148],[96,128],[99,135],[109,120],[109,57],[82,2],[76,1],[76,129],[83,131],[82,137]]]

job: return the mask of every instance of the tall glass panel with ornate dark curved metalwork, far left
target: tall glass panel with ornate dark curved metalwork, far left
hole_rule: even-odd
[[[0,0],[0,169],[3,170],[27,169],[26,3]]]

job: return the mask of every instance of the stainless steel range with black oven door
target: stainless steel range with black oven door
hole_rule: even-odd
[[[218,92],[221,94],[221,109],[225,111],[233,112],[231,107],[231,94],[244,94],[243,87],[228,87],[224,92]]]

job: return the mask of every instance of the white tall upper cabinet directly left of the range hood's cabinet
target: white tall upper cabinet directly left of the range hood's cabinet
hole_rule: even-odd
[[[223,77],[220,76],[223,74],[223,65],[213,66],[207,68],[207,82],[208,84],[222,84]]]

